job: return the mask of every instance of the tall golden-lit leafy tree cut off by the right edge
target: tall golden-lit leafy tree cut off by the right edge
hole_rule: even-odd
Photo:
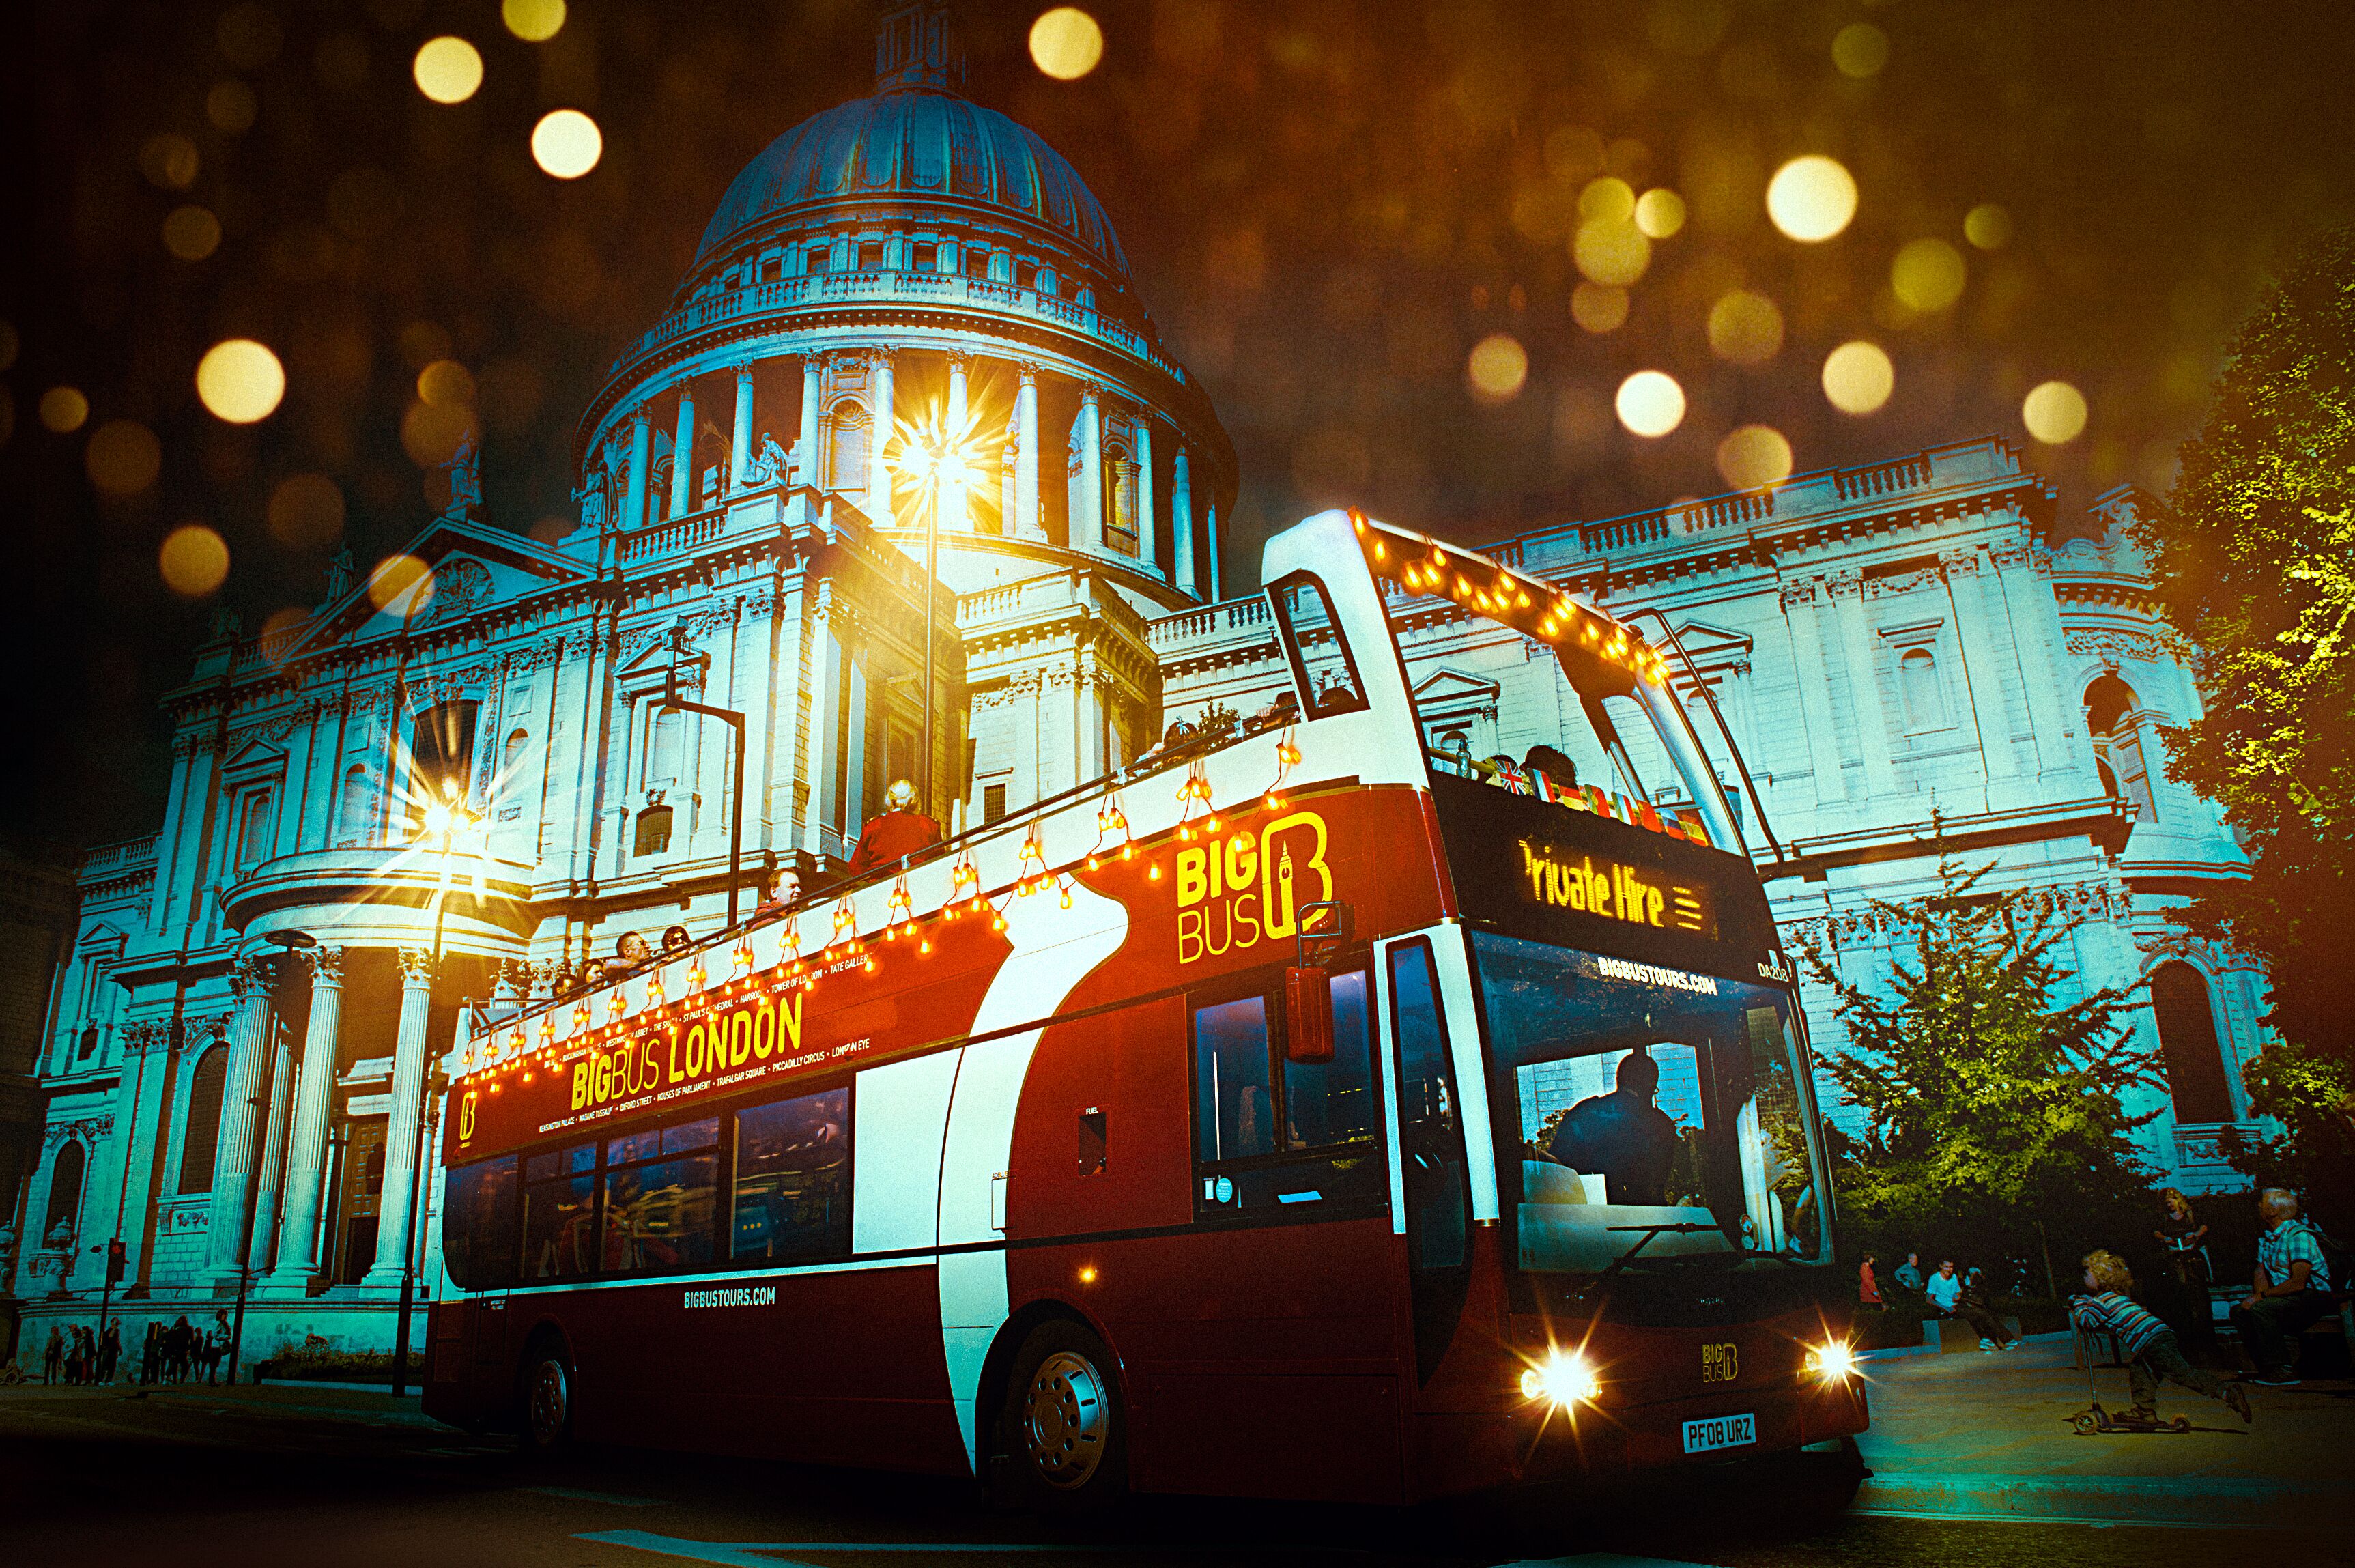
[[[2275,1029],[2350,1062],[2355,228],[2313,240],[2247,320],[2136,544],[2207,704],[2167,735],[2167,775],[2223,805],[2254,862],[2185,923],[2266,963]]]

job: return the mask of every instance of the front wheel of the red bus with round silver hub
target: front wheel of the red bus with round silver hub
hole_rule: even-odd
[[[1006,1387],[1003,1443],[1013,1502],[1079,1514],[1128,1486],[1128,1413],[1112,1351],[1079,1323],[1041,1323]]]

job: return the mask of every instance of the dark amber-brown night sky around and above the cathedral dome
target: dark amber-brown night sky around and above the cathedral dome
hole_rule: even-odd
[[[2329,0],[1104,0],[1088,7],[1104,59],[1079,82],[1031,66],[1039,9],[958,7],[970,92],[1090,181],[1234,433],[1229,582],[1251,582],[1269,527],[1333,501],[1477,542],[1724,490],[1717,445],[1743,424],[1778,428],[1799,471],[2004,433],[2061,483],[2063,516],[2122,480],[2164,490],[2233,323],[2355,200],[2355,7]],[[16,7],[0,819],[82,843],[153,829],[155,699],[214,607],[257,629],[309,605],[337,549],[316,509],[271,525],[280,483],[332,480],[363,570],[431,516],[400,440],[424,360],[473,374],[490,518],[528,530],[558,511],[612,351],[657,320],[735,170],[867,92],[874,14],[575,0],[556,40],[528,45],[497,0]],[[1858,21],[1889,42],[1868,78],[1832,59]],[[410,80],[436,33],[483,49],[466,104]],[[224,129],[236,82],[254,118]],[[605,132],[586,179],[530,160],[553,106]],[[186,137],[193,174],[158,134]],[[1766,177],[1799,153],[1839,158],[1860,188],[1823,245],[1766,221]],[[1691,210],[1608,334],[1571,318],[1566,235],[1597,155]],[[2011,214],[2002,250],[1964,238],[1981,202]],[[181,205],[219,219],[200,261],[165,247]],[[1889,268],[1919,238],[1969,271],[1950,308],[1905,320]],[[1736,287],[1783,315],[1766,363],[1712,353],[1710,306]],[[1493,332],[1526,346],[1528,381],[1481,405],[1465,358]],[[280,353],[287,396],[233,428],[191,377],[240,334]],[[1856,337],[1896,360],[1870,417],[1835,412],[1818,381]],[[1660,440],[1611,419],[1641,367],[1691,398]],[[2061,447],[2021,424],[2049,377],[2091,405]],[[73,433],[38,414],[54,386],[89,400]],[[160,471],[108,497],[89,440],[120,419],[153,431]],[[203,600],[158,572],[188,520],[231,549]]]

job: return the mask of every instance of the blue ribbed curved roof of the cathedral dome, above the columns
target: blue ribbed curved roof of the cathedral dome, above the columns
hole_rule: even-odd
[[[937,89],[885,89],[812,115],[744,165],[704,226],[690,275],[747,231],[860,198],[1015,214],[1128,283],[1102,202],[1039,134]]]

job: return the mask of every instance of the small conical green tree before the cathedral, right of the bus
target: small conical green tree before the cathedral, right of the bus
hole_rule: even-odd
[[[1832,1140],[1835,1189],[1858,1245],[2011,1257],[2037,1285],[2120,1245],[2152,1170],[2122,1095],[2155,1085],[2152,1052],[2120,1022],[2129,994],[2056,1001],[2068,925],[2023,892],[1985,892],[1938,838],[1938,890],[1872,902],[1889,944],[1868,975],[1809,954],[1846,1043],[1820,1052],[1863,1130]],[[2143,1227],[2150,1229],[2148,1224]]]

